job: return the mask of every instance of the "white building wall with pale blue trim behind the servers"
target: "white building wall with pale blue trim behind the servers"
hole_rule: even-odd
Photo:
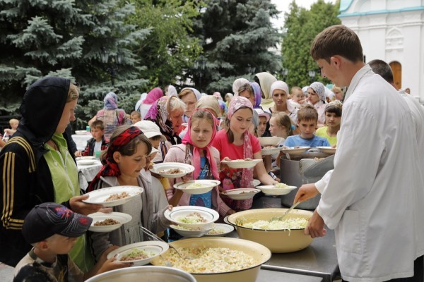
[[[424,102],[424,0],[341,0],[339,18],[354,30],[366,61],[398,61],[402,88]]]

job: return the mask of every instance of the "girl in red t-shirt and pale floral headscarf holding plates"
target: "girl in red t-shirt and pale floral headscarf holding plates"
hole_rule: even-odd
[[[220,151],[220,160],[235,159],[262,159],[261,145],[259,140],[249,133],[252,125],[253,106],[245,97],[234,97],[228,108],[225,120],[226,130],[220,130],[213,138],[212,145]],[[264,164],[259,162],[254,168],[232,169],[222,166],[220,181],[223,190],[234,188],[253,188],[253,174],[255,173],[264,185],[275,185],[278,183],[269,176]],[[252,207],[252,199],[230,200],[223,196],[226,204],[235,211],[245,210]]]

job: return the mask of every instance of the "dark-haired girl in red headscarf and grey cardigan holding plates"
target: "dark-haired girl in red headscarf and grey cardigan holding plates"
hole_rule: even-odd
[[[140,197],[113,208],[114,212],[131,215],[129,223],[110,233],[92,233],[91,247],[95,257],[100,257],[111,245],[143,241],[140,226],[153,233],[165,231],[170,226],[164,213],[172,207],[167,203],[163,188],[153,188],[151,180],[141,174],[151,149],[151,142],[138,127],[122,125],[114,130],[109,147],[101,156],[106,164],[90,183],[88,191],[124,185],[139,186],[144,191]]]

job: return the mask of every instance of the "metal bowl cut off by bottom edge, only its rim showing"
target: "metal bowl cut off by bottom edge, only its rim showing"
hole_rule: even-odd
[[[196,282],[186,271],[167,266],[133,266],[115,269],[91,277],[86,282]]]

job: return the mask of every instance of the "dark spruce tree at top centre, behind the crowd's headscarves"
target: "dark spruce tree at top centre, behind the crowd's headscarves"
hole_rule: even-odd
[[[248,66],[254,67],[255,73],[280,70],[279,55],[269,51],[281,39],[270,21],[278,14],[271,1],[204,2],[194,34],[202,40],[206,68],[201,73],[194,68],[186,73],[199,90],[232,92],[235,78],[248,78]]]

